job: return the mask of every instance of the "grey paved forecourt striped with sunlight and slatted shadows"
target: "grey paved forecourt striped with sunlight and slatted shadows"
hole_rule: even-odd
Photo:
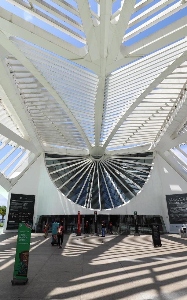
[[[187,239],[178,235],[154,248],[150,235],[71,234],[58,249],[32,234],[29,281],[12,286],[16,239],[0,234],[0,300],[187,300]]]

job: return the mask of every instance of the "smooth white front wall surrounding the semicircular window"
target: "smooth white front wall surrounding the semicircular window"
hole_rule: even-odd
[[[81,214],[94,213],[93,209],[86,209],[74,204],[57,190],[47,173],[43,154],[13,186],[10,193],[36,195],[33,223],[35,223],[37,215],[77,214],[78,211],[81,211]],[[165,195],[179,193],[187,193],[186,181],[156,154],[151,177],[144,185],[142,192],[129,203],[112,210],[98,211],[98,214],[123,215],[133,214],[134,211],[137,211],[141,215],[161,215],[167,231],[171,232]]]

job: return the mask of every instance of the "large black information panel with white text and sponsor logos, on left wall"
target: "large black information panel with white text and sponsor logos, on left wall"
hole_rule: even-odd
[[[6,229],[18,229],[19,223],[32,223],[35,196],[11,194],[9,216]]]

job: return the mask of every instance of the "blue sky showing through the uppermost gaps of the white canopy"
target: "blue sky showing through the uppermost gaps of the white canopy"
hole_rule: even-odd
[[[26,1],[26,0],[25,0]],[[75,21],[81,23],[81,20],[79,17],[75,16],[74,14],[68,12],[67,10],[61,8],[60,6],[58,6],[57,4],[55,4],[54,2],[52,2],[51,0],[45,0],[47,3],[49,3],[50,5],[53,5],[55,8],[57,8],[58,10],[60,10],[61,12],[65,13],[68,15],[68,17],[71,17],[72,19],[74,19]],[[155,5],[157,2],[160,2],[161,0],[154,0],[152,3],[150,3],[149,5],[145,6],[144,8],[142,8],[141,10],[139,10],[138,12],[132,14],[131,19],[136,17],[139,13],[142,13],[143,11],[149,9],[153,4]],[[68,0],[68,2],[75,6],[75,8],[77,8],[76,2],[73,0]],[[89,0],[90,2],[90,8],[94,11],[97,12],[97,3],[94,0]],[[140,0],[137,0],[136,3],[140,2]],[[178,2],[178,0],[173,1],[171,4],[167,5],[166,7],[164,7],[163,9],[160,9],[158,12],[152,14],[151,16],[147,17],[145,20],[142,20],[141,22],[139,22],[138,24],[134,25],[133,27],[127,29],[128,33],[130,30],[138,27],[139,25],[143,24],[144,22],[148,21],[150,18],[156,16],[158,13],[161,13],[162,11],[164,11],[165,9],[168,9],[170,6],[174,5],[176,2]],[[114,13],[116,10],[118,10],[120,8],[120,3],[121,0],[116,0],[113,5],[112,5],[112,13]],[[74,39],[73,37],[69,36],[68,34],[65,34],[63,32],[61,32],[60,30],[54,28],[53,26],[46,24],[44,21],[41,21],[35,17],[33,17],[31,14],[23,11],[22,9],[17,8],[16,6],[6,2],[6,0],[1,0],[0,2],[0,6],[2,6],[4,9],[9,10],[10,12],[22,17],[23,19],[25,19],[26,21],[29,21],[43,29],[45,29],[46,31],[51,32],[52,34],[60,37],[61,39],[64,39],[65,41],[75,45],[76,47],[83,47],[84,43]],[[39,7],[35,6],[35,8],[40,9]],[[40,9],[42,12],[44,12],[42,9]],[[45,11],[46,13],[46,11]],[[52,15],[50,15],[50,13],[47,13],[49,16],[53,17],[56,21],[59,21],[61,24],[67,26],[68,28],[74,30],[76,33],[85,36],[83,32],[79,31],[78,29],[76,29],[75,27],[72,27],[71,25],[61,21],[60,19],[58,19],[57,17],[54,17]],[[157,30],[165,27],[168,24],[171,24],[172,22],[184,17],[187,14],[187,7],[180,10],[179,12],[173,14],[172,16],[166,18],[163,21],[160,21],[158,24],[152,26],[151,28],[139,33],[137,36],[129,39],[127,42],[124,43],[124,45],[130,45],[132,43],[137,42],[138,40],[149,36],[150,34],[152,34],[153,32],[156,32]]]

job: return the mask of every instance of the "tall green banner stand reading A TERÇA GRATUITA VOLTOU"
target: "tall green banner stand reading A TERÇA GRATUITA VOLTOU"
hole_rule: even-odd
[[[14,283],[26,283],[28,281],[28,259],[31,242],[31,225],[19,223],[16,245],[16,257],[14,263],[13,280]]]

